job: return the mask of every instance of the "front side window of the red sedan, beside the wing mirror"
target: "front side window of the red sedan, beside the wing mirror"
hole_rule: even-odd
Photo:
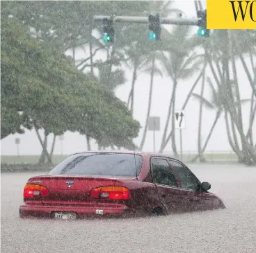
[[[181,188],[198,191],[200,183],[191,171],[185,168],[182,164],[179,164],[179,162],[175,162],[173,160],[168,160],[168,162],[170,162],[170,165],[173,167],[173,171],[177,177],[179,177]]]

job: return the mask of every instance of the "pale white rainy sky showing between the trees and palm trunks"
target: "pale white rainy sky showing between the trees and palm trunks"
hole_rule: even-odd
[[[202,1],[205,5],[205,1]],[[180,9],[184,12],[186,17],[195,17],[195,6],[193,1],[175,1],[173,3],[173,8]],[[147,29],[147,27],[146,27]],[[196,33],[197,28],[195,28]],[[76,60],[84,58],[85,55],[83,51],[77,51]],[[97,55],[97,58],[105,58],[106,56],[102,53]],[[237,63],[238,69],[238,78],[241,91],[241,99],[250,98],[251,89],[246,77],[246,73],[243,71],[243,67],[240,62]],[[211,72],[207,70],[207,76],[211,77]],[[176,109],[180,110],[188,94],[189,89],[193,85],[196,76],[192,76],[189,80],[179,82],[177,89],[177,98],[176,98]],[[125,85],[118,87],[115,91],[116,96],[122,101],[127,102],[129,90],[131,87],[131,71],[127,69],[126,71],[127,82]],[[148,93],[150,88],[150,76],[148,74],[141,74],[138,77],[135,87],[135,102],[134,102],[134,118],[140,121],[141,126],[145,125],[146,113],[147,113],[147,101]],[[163,134],[163,128],[166,123],[166,116],[168,110],[168,104],[170,101],[170,94],[172,91],[172,81],[165,73],[163,78],[157,76],[154,78],[154,88],[153,88],[153,98],[152,98],[152,111],[150,116],[159,116],[161,119],[160,122],[160,131],[156,132],[156,149],[159,150],[161,145],[161,137]],[[200,94],[200,85],[195,89],[195,93]],[[211,99],[211,93],[209,87],[205,88],[205,98]],[[248,129],[249,121],[249,109],[250,104],[243,105],[243,127],[244,130]],[[182,130],[182,146],[183,152],[196,152],[197,150],[197,134],[198,134],[198,110],[199,103],[194,98],[191,98],[191,101],[186,107],[185,110],[185,122],[186,128]],[[214,116],[216,111],[204,109],[202,112],[202,142],[204,143],[207,138],[207,134],[211,125],[214,121]],[[42,132],[41,132],[42,133]],[[140,143],[142,138],[143,129],[139,136],[134,139],[134,143],[137,145]],[[256,127],[254,128],[254,135],[256,134]],[[35,131],[26,131],[25,134],[12,134],[1,140],[1,155],[17,155],[17,145],[15,144],[15,139],[20,139],[19,144],[19,154],[20,155],[39,155],[42,151],[38,137],[35,134]],[[52,141],[52,136],[49,138],[49,149]],[[176,141],[177,148],[179,146],[179,130],[176,130]],[[97,145],[94,141],[91,142],[93,150],[97,149]],[[56,139],[56,146],[54,154],[65,154],[70,155],[74,152],[85,151],[87,150],[86,137],[81,136],[79,133],[66,132],[64,138]],[[214,133],[212,134],[211,140],[207,146],[208,152],[230,152],[232,148],[227,141],[227,134],[225,130],[225,120],[223,116],[218,122]],[[147,132],[147,139],[145,141],[145,146],[143,151],[153,151],[153,132]],[[166,153],[171,153],[171,143],[168,143]]]

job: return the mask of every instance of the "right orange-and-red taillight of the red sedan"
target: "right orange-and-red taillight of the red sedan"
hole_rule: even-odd
[[[90,191],[90,197],[106,200],[129,200],[131,193],[129,189],[122,186],[102,186]]]

